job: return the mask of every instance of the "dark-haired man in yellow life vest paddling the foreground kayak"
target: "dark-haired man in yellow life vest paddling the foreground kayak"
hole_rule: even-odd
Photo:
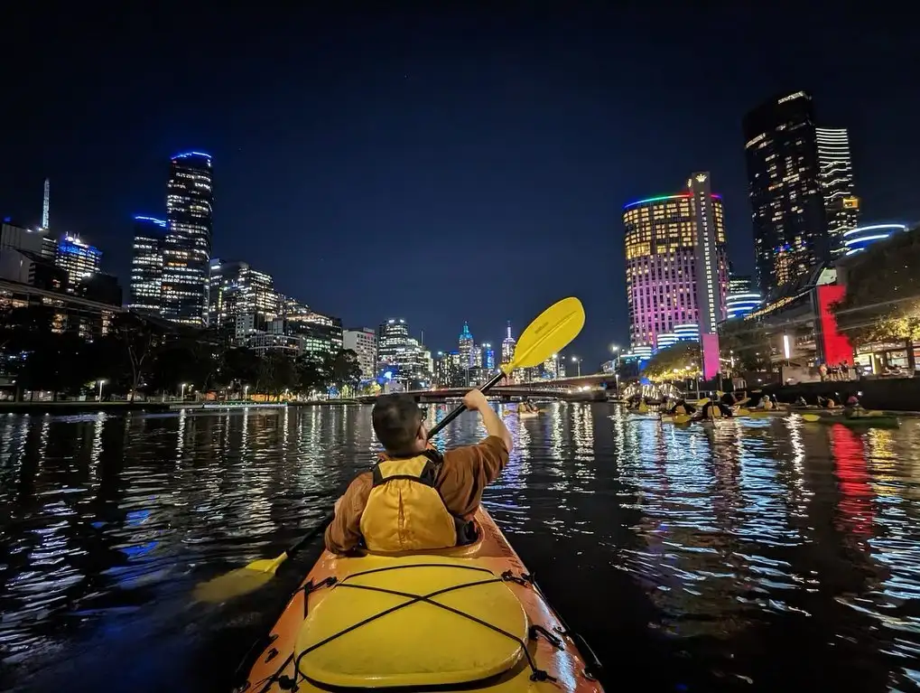
[[[487,437],[442,456],[428,445],[424,412],[414,398],[377,398],[374,433],[386,452],[336,502],[326,529],[327,549],[446,549],[476,539],[470,518],[483,489],[508,464],[512,435],[479,390],[467,392],[463,401],[466,409],[479,412]]]

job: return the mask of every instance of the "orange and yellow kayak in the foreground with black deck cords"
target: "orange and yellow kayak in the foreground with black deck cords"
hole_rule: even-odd
[[[600,664],[482,507],[477,542],[414,554],[324,550],[239,667],[242,691],[425,688],[603,693]]]

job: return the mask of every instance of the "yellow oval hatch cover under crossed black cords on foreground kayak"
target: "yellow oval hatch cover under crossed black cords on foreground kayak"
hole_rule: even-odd
[[[321,686],[450,686],[530,659],[521,602],[471,560],[386,558],[323,591],[294,649],[297,672]]]

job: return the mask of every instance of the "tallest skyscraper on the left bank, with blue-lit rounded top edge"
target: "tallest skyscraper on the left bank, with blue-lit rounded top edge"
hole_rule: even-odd
[[[211,156],[201,152],[173,156],[167,183],[162,302],[163,317],[174,322],[208,324],[212,208]]]

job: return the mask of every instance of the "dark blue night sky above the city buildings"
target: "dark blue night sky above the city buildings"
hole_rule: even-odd
[[[165,214],[168,157],[197,149],[213,155],[216,257],[346,327],[404,317],[432,350],[455,349],[464,320],[497,342],[577,295],[570,353],[593,366],[627,340],[622,205],[711,171],[730,259],[753,271],[742,115],[799,88],[850,129],[862,221],[920,219],[900,15],[191,4],[5,20],[0,214],[38,225],[50,177],[52,231],[102,249],[125,289],[132,214]]]

